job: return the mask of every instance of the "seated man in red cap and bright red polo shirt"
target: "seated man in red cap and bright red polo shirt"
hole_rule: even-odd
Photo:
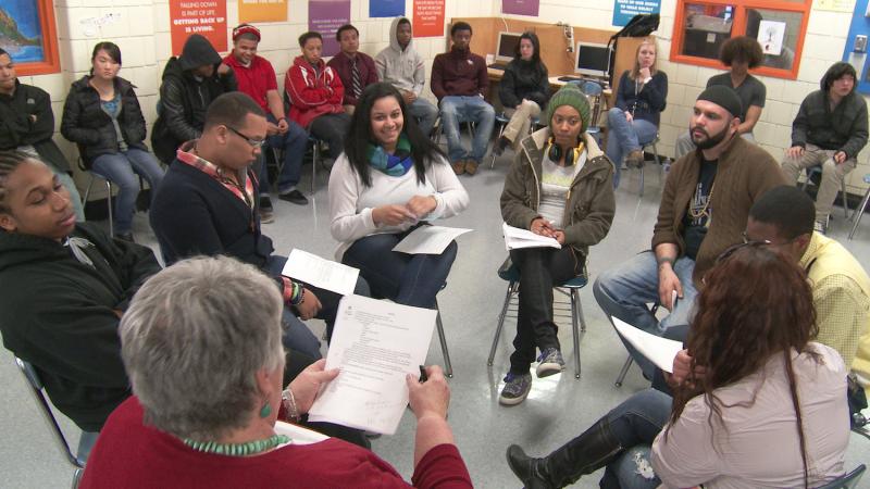
[[[302,156],[308,143],[308,134],[295,122],[285,116],[284,101],[278,91],[277,78],[272,63],[257,55],[260,43],[260,29],[241,24],[233,29],[233,51],[224,63],[233,68],[238,80],[238,90],[252,98],[266,113],[269,129],[266,145],[284,149],[284,165],[278,175],[278,198],[295,204],[304,205],[308,199],[296,185],[302,172]],[[272,200],[269,197],[269,171],[261,155],[257,162],[260,179],[260,221],[271,223]]]

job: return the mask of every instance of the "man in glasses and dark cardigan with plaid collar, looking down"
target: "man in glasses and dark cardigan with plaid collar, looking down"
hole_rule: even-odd
[[[227,254],[258,266],[278,283],[289,325],[285,342],[314,359],[320,341],[296,318],[335,321],[340,296],[282,276],[286,256],[273,254],[258,214],[258,180],[250,168],[268,133],[263,110],[243,92],[224,93],[209,106],[202,136],[178,150],[151,208],[151,227],[166,263],[197,254]],[[357,281],[356,293],[369,287]]]

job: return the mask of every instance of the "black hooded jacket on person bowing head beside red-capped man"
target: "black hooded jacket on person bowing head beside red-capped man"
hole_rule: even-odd
[[[151,131],[151,147],[163,163],[175,160],[175,150],[185,141],[198,139],[212,100],[238,89],[233,70],[219,75],[221,55],[200,35],[187,38],[178,58],[170,58],[160,86],[159,116]],[[213,65],[208,78],[194,76],[199,66]]]

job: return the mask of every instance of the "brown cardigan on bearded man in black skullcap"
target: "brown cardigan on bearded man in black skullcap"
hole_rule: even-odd
[[[685,252],[683,217],[695,193],[700,175],[701,152],[696,150],[671,166],[652,231],[652,249],[663,242],[676,244],[680,256]],[[707,236],[695,259],[692,276],[695,287],[704,274],[729,247],[741,242],[746,229],[749,208],[769,189],[785,185],[780,164],[761,147],[734,137],[719,156],[712,209]]]

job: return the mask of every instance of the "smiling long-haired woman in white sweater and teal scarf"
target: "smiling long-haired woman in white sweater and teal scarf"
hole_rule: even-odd
[[[362,92],[345,153],[330,176],[336,260],[360,269],[372,297],[433,309],[456,259],[456,242],[442,254],[406,254],[393,247],[428,221],[462,212],[469,196],[445,154],[426,138],[391,85]]]

